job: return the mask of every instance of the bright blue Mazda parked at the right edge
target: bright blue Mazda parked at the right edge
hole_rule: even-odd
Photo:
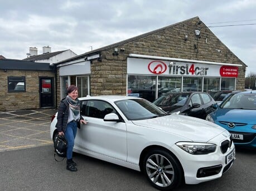
[[[256,148],[256,91],[230,95],[206,120],[228,130],[235,145]]]

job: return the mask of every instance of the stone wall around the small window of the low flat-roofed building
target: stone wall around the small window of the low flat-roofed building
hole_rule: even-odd
[[[8,76],[26,77],[26,92],[8,92]],[[0,111],[40,108],[39,77],[55,77],[49,71],[0,71]]]

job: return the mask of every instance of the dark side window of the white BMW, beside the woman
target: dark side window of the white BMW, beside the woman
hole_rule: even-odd
[[[109,113],[116,113],[115,109],[102,100],[86,100],[81,102],[81,114],[87,117],[103,119]]]

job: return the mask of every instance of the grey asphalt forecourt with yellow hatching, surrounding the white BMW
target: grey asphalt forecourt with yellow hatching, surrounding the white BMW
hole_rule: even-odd
[[[50,121],[55,112],[0,112],[0,190],[156,190],[142,173],[81,154],[74,154],[78,172],[67,171],[65,160],[54,160]],[[175,191],[253,191],[255,159],[255,149],[238,147],[235,163],[223,177],[196,185],[183,184]]]

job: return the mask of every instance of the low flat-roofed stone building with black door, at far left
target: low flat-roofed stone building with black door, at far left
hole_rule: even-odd
[[[49,63],[0,59],[0,111],[54,108],[54,82]]]

